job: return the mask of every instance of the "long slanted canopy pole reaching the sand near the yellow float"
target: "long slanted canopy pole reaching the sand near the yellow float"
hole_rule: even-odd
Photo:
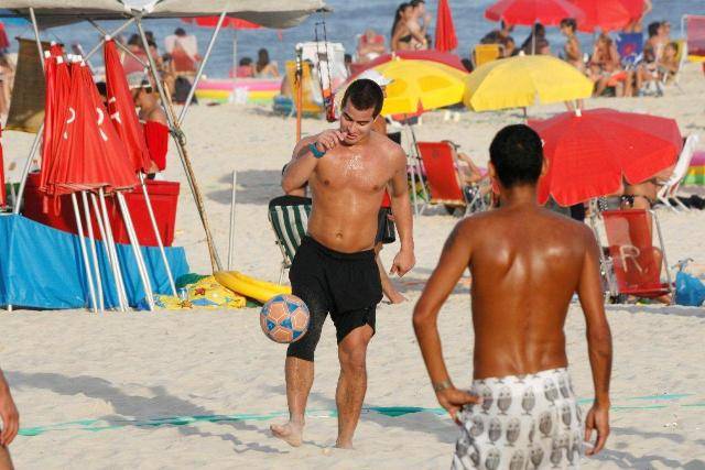
[[[144,46],[145,51],[148,51],[149,44],[147,41],[147,35],[144,34],[144,28],[142,26],[142,22],[140,19],[137,19],[137,29],[140,32],[142,45]],[[208,243],[208,252],[210,254],[210,265],[214,272],[221,271],[223,265],[220,264],[220,258],[218,256],[218,252],[213,240],[213,234],[210,232],[210,225],[208,223],[206,206],[203,203],[203,196],[200,195],[200,189],[198,188],[198,184],[196,183],[196,177],[188,159],[188,152],[186,151],[186,138],[184,135],[184,132],[181,130],[178,122],[176,122],[175,112],[173,107],[171,106],[171,99],[166,95],[164,86],[160,80],[159,75],[156,74],[156,64],[154,63],[154,57],[152,57],[152,54],[147,54],[147,57],[150,62],[150,70],[152,73],[152,76],[154,77],[156,89],[160,97],[162,98],[162,102],[164,103],[164,108],[166,110],[166,120],[169,121],[171,133],[174,136],[174,141],[176,142],[176,150],[178,151],[178,156],[181,157],[182,164],[184,165],[186,179],[188,181],[188,185],[191,186],[191,193],[196,203],[196,209],[198,210],[198,215],[200,216],[200,221],[206,233],[206,242]]]

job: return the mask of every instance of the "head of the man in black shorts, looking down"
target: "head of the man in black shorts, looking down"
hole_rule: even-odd
[[[340,131],[346,144],[356,144],[370,134],[383,103],[384,94],[375,81],[362,78],[350,84],[340,105]]]

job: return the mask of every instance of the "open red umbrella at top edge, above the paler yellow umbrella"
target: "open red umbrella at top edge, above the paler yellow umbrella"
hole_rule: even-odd
[[[579,24],[585,20],[585,13],[568,0],[499,0],[485,10],[485,18],[509,24],[555,26],[564,18],[574,18]]]

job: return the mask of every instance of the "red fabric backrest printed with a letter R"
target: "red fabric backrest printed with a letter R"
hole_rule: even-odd
[[[662,294],[663,253],[653,247],[651,215],[644,209],[606,210],[605,232],[620,294]]]

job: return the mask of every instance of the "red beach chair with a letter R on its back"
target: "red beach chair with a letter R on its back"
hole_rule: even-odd
[[[608,244],[607,256],[603,256],[608,294],[612,298],[658,298],[672,294],[673,284],[657,214],[629,209],[606,210],[601,216]],[[653,226],[657,227],[659,248],[653,245]],[[599,241],[597,231],[595,233]],[[665,281],[662,281],[662,273]]]

